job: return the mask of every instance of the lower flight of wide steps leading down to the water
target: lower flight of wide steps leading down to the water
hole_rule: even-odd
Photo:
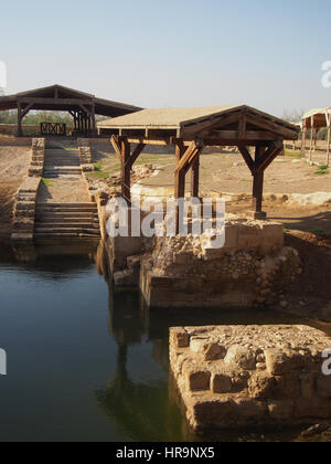
[[[99,239],[96,203],[38,203],[34,239]]]

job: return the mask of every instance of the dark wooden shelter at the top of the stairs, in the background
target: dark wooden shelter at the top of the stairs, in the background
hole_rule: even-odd
[[[9,109],[18,110],[18,135],[22,136],[22,119],[30,110],[68,112],[74,118],[76,133],[95,134],[96,115],[117,117],[141,108],[97,98],[62,85],[52,85],[0,97],[0,112]]]

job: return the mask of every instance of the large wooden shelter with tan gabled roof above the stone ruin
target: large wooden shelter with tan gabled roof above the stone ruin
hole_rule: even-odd
[[[238,147],[254,179],[255,218],[263,213],[264,172],[284,151],[284,140],[296,140],[300,129],[248,106],[145,109],[105,120],[98,130],[111,136],[121,162],[122,196],[130,194],[130,171],[146,145],[175,147],[174,197],[185,196],[185,176],[191,171],[191,194],[199,197],[200,155],[207,146]],[[131,145],[135,148],[131,149]],[[254,147],[254,156],[250,147]]]

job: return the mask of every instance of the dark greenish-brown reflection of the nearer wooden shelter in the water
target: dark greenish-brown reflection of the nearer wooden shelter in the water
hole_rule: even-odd
[[[109,288],[110,331],[117,346],[116,376],[96,392],[107,415],[135,441],[175,441],[182,418],[175,403],[169,404],[164,381],[134,382],[128,371],[129,347],[140,344],[143,327],[137,294],[113,294]]]

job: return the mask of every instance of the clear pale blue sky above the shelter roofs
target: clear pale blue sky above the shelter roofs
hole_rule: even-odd
[[[143,107],[331,105],[330,0],[1,4],[7,93],[63,84]]]

